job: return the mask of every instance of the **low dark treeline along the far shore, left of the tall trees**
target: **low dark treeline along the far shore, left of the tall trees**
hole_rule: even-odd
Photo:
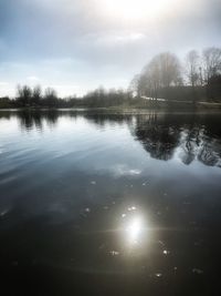
[[[0,99],[1,108],[97,108],[97,106],[116,106],[120,104],[131,104],[133,95],[124,90],[105,90],[99,88],[95,91],[88,92],[83,98],[69,96],[61,99],[56,91],[52,88],[45,89],[43,92],[40,85],[30,88],[28,85],[19,85],[17,89],[17,98],[10,100],[9,98]]]

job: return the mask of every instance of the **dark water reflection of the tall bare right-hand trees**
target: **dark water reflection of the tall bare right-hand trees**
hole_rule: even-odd
[[[168,161],[176,149],[185,164],[221,166],[220,119],[214,115],[149,114],[137,119],[135,136],[151,157]]]

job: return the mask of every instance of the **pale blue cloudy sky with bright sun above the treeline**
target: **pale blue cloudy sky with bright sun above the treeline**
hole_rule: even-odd
[[[159,52],[221,47],[220,0],[0,0],[0,96],[127,88]]]

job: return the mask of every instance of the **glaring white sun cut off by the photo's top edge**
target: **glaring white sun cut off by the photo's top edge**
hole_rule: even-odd
[[[173,0],[102,0],[99,6],[105,14],[126,20],[154,18],[171,8]]]

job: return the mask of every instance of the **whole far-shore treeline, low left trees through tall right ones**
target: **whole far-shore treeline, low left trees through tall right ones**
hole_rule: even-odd
[[[40,85],[18,85],[13,100],[0,98],[0,108],[107,108],[119,105],[151,106],[166,102],[221,102],[221,49],[191,50],[183,62],[170,52],[155,55],[131,80],[128,89],[98,88],[82,98],[61,99],[56,91]],[[151,101],[151,102],[150,102]]]

